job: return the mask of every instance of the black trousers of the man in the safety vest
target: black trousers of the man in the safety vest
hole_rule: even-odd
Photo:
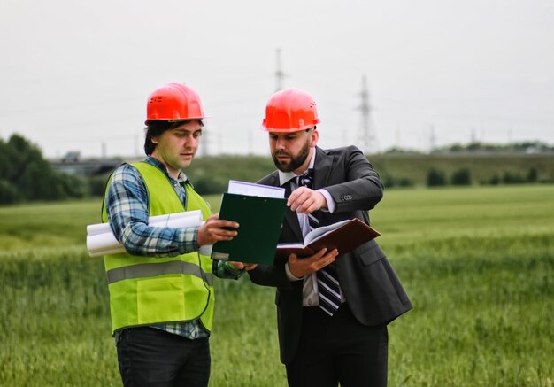
[[[125,329],[118,341],[125,387],[205,387],[210,379],[209,337],[189,340],[161,329]]]

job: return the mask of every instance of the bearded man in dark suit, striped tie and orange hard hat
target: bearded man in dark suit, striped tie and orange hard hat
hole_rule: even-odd
[[[310,229],[338,221],[369,224],[368,210],[383,194],[379,175],[357,147],[317,147],[318,123],[316,104],[303,90],[281,90],[267,103],[263,128],[278,170],[258,183],[282,186],[289,197],[281,243],[302,242]],[[253,283],[277,288],[289,386],[387,384],[387,324],[412,304],[374,240],[345,254],[291,254],[249,274]]]

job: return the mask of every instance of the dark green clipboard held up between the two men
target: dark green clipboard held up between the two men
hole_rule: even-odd
[[[238,235],[213,244],[212,259],[273,265],[286,209],[286,198],[224,193],[219,219],[238,222]]]

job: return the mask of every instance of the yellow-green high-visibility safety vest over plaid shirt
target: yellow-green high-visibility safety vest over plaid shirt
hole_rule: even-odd
[[[150,198],[150,216],[201,210],[204,221],[211,211],[189,185],[186,207],[167,176],[145,162],[131,164],[142,175]],[[106,188],[105,195],[108,189]],[[102,219],[108,221],[104,205]],[[199,252],[172,258],[137,257],[127,252],[104,255],[110,290],[112,330],[160,322],[192,321],[200,318],[212,330],[212,259]]]

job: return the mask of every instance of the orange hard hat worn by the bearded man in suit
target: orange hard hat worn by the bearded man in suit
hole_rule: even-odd
[[[267,101],[262,128],[267,132],[286,133],[309,129],[318,123],[312,96],[301,89],[284,89]]]

